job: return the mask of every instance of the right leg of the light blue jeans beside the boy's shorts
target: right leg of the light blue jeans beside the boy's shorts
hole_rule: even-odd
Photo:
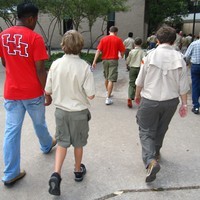
[[[48,153],[52,148],[53,139],[49,134],[45,121],[44,97],[40,96],[38,98],[25,100],[23,103],[32,119],[41,150],[44,153]]]

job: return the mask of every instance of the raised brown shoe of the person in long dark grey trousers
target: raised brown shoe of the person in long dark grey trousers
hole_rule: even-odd
[[[160,165],[156,160],[152,160],[147,168],[146,182],[152,182],[156,179],[156,174],[160,171]]]

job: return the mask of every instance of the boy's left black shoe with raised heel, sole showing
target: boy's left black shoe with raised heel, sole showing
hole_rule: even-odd
[[[60,196],[60,174],[54,172],[49,179],[49,193],[52,195]]]

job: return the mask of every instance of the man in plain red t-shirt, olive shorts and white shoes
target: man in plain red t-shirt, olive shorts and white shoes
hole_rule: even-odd
[[[102,53],[105,86],[107,91],[107,97],[105,101],[106,105],[110,105],[113,103],[111,99],[111,93],[113,90],[113,83],[116,82],[118,78],[119,53],[120,56],[123,58],[125,52],[123,41],[119,37],[117,37],[117,33],[118,28],[116,26],[111,26],[110,34],[100,40],[92,64],[92,66],[95,68],[96,61],[99,55]]]

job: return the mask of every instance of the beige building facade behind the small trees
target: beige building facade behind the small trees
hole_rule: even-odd
[[[133,37],[141,37],[143,40],[147,38],[147,23],[145,22],[145,0],[128,0],[129,11],[112,13],[108,17],[109,22],[103,23],[102,19],[98,19],[92,28],[90,34],[87,22],[83,21],[79,31],[83,34],[85,40],[85,48],[91,46],[91,41],[95,41],[93,48],[97,46],[99,40],[108,34],[107,25],[115,25],[119,28],[118,36],[124,40],[127,38],[128,32],[133,32]],[[66,24],[53,23],[53,16],[49,14],[39,14],[35,31],[43,35],[47,45],[51,44],[52,49],[59,49],[62,35],[66,31]],[[51,27],[49,28],[49,24]],[[0,18],[0,24],[3,29],[7,28],[5,22]],[[55,30],[53,32],[53,29]],[[42,29],[41,29],[42,28]],[[53,32],[53,34],[52,34]]]

